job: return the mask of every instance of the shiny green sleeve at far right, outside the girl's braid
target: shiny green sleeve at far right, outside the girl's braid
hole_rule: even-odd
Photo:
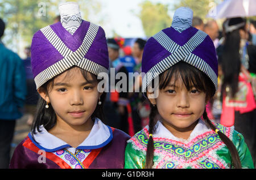
[[[249,148],[245,143],[243,135],[237,131],[233,132],[233,143],[237,148],[238,155],[240,157],[242,168],[254,169],[253,158],[251,157]]]

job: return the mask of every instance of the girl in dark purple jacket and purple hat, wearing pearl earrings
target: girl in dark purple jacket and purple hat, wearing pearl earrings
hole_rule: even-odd
[[[123,168],[129,136],[101,121],[105,92],[97,76],[109,66],[104,30],[82,20],[76,3],[59,8],[61,23],[32,39],[38,112],[10,168]]]

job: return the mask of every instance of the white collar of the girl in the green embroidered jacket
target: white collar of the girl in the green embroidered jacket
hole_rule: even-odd
[[[204,132],[208,132],[208,131],[211,131],[211,129],[205,125],[205,122],[202,119],[199,119],[199,122],[197,123],[197,125],[195,126],[195,128],[193,129],[191,134],[189,135],[189,138],[182,139],[182,138],[177,138],[176,136],[174,136],[169,130],[167,130],[166,127],[163,126],[162,122],[158,121],[155,125],[155,133],[154,133],[153,137],[154,138],[167,138],[167,139],[172,139],[172,140],[176,140],[179,142],[188,143],[192,139],[196,138],[196,136],[203,134]]]

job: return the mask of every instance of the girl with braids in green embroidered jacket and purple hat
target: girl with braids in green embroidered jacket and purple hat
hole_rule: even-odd
[[[212,40],[191,27],[192,17],[189,8],[177,9],[172,27],[147,41],[142,72],[150,122],[128,141],[125,168],[253,168],[243,136],[207,116],[218,64]]]

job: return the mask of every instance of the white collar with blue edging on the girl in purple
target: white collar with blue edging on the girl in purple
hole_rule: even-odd
[[[43,125],[40,126],[40,131],[36,131],[33,136],[31,132],[28,137],[39,149],[46,152],[55,152],[59,149],[69,148],[71,145],[63,140],[50,134]],[[97,149],[104,147],[113,139],[112,129],[106,126],[100,119],[96,118],[94,125],[88,137],[76,149]]]

